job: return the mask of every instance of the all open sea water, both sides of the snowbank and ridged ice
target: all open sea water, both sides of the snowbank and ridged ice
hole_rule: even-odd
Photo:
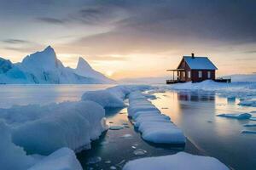
[[[1,85],[0,108],[11,105],[40,104],[76,101],[88,90],[109,88],[113,85]],[[122,126],[108,130],[92,144],[91,150],[78,154],[84,169],[120,169],[126,161],[145,156],[173,154],[180,150],[214,156],[226,165],[238,170],[256,167],[256,134],[241,133],[256,127],[254,121],[236,120],[216,115],[256,111],[255,107],[237,105],[239,99],[224,98],[209,92],[169,91],[155,94],[153,100],[163,113],[188,137],[185,147],[148,144],[132,127],[126,109],[107,111],[109,126]],[[256,116],[256,113],[252,113]]]

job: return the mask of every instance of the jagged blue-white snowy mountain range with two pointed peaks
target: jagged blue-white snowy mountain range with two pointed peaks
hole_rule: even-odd
[[[81,60],[81,61],[80,61]],[[50,46],[44,51],[27,55],[21,63],[12,64],[0,58],[0,83],[92,84],[111,83],[108,77],[94,71],[82,58],[77,69],[62,65]],[[84,72],[84,71],[88,71]]]

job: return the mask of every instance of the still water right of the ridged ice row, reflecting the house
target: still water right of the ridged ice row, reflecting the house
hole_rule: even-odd
[[[237,105],[239,99],[218,97],[212,93],[168,92],[152,100],[163,113],[183,129],[185,135],[204,153],[217,157],[236,169],[256,166],[256,135],[241,134],[248,120],[216,116],[222,113],[247,113],[253,107]],[[253,116],[256,116],[254,114]],[[256,130],[251,127],[251,130]]]

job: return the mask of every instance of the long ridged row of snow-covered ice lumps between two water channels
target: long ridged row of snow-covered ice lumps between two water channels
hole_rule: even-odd
[[[185,136],[169,116],[160,111],[141,92],[129,94],[128,115],[143,139],[157,144],[184,144]]]

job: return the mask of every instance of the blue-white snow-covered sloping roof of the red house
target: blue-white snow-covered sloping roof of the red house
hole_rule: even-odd
[[[183,59],[189,65],[191,70],[218,70],[207,57],[192,58],[191,56],[183,56]]]

